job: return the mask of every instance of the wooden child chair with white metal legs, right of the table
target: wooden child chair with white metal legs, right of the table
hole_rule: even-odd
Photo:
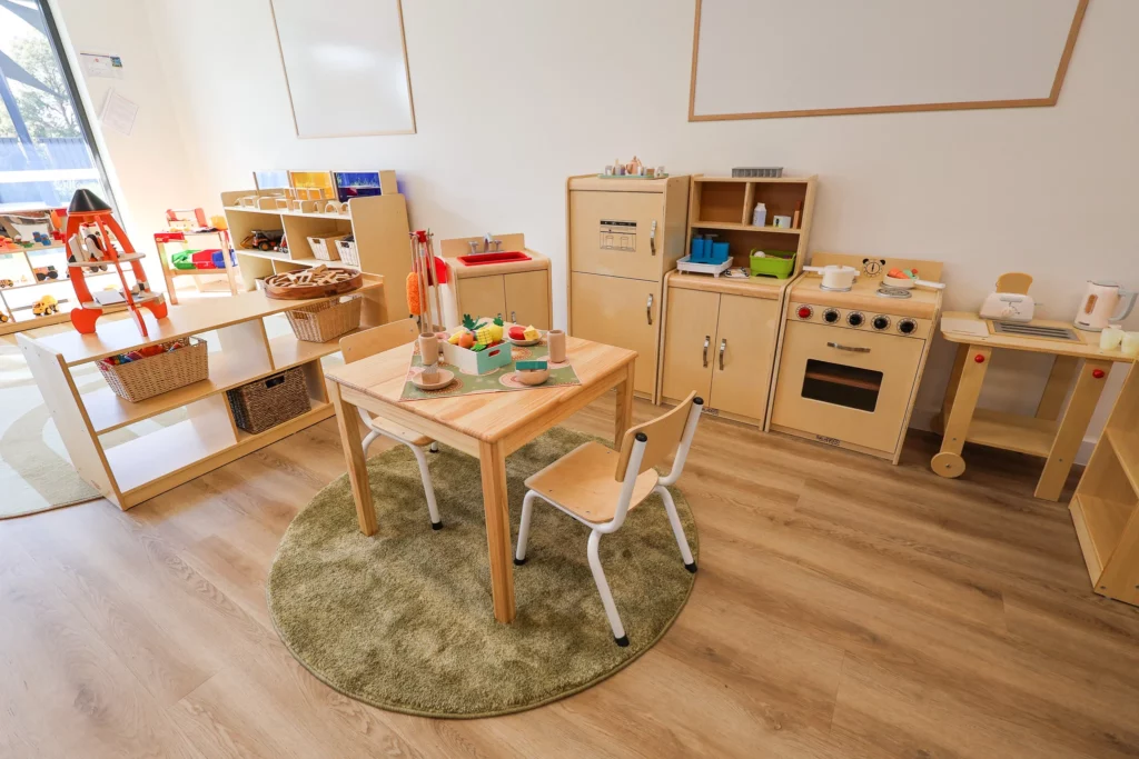
[[[518,526],[518,547],[514,563],[526,563],[526,539],[530,537],[534,498],[546,501],[591,528],[593,531],[590,533],[587,550],[589,568],[593,572],[593,581],[601,595],[601,604],[617,645],[629,645],[629,637],[613,603],[601,560],[597,555],[601,536],[621,529],[629,510],[645,501],[649,494],[656,493],[669,512],[669,521],[677,536],[685,568],[690,572],[696,571],[696,561],[688,550],[688,538],[685,537],[685,528],[680,526],[677,504],[673,503],[667,486],[680,479],[680,472],[685,469],[688,447],[693,444],[703,405],[704,401],[691,393],[683,403],[663,416],[626,431],[620,453],[600,443],[585,443],[526,480],[530,489],[522,502],[522,523]],[[672,451],[677,452],[672,471],[666,477],[661,477],[654,467]]]

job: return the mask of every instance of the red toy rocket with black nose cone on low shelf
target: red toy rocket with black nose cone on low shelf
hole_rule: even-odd
[[[110,206],[90,190],[76,190],[67,207],[67,228],[64,232],[71,250],[67,269],[75,288],[79,305],[71,311],[72,324],[84,335],[95,332],[95,323],[103,315],[103,306],[91,295],[84,272],[88,269],[106,269],[109,264],[118,273],[121,295],[126,308],[142,337],[148,337],[146,320],[139,306],[147,307],[155,319],[166,317],[166,300],[162,292],[150,290],[142,256],[136,253],[123,228],[112,215]],[[116,247],[117,246],[117,247]],[[130,263],[134,284],[130,284],[123,271],[122,258]]]

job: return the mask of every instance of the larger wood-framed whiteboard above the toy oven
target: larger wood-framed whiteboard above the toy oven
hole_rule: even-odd
[[[696,0],[689,121],[1056,104],[1088,0]]]

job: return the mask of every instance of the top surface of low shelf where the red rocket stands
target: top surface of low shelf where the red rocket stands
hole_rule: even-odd
[[[219,272],[221,270],[218,270]],[[364,292],[367,290],[383,287],[384,278],[379,274],[364,274],[363,284],[352,292]],[[330,296],[339,297],[339,296]],[[59,335],[50,335],[34,339],[35,343],[48,350],[62,354],[64,362],[68,365],[81,364],[88,361],[97,361],[114,356],[120,353],[137,350],[155,343],[175,340],[189,335],[198,335],[211,330],[229,327],[239,322],[261,319],[272,314],[308,306],[329,298],[308,298],[304,300],[280,300],[265,297],[261,290],[255,292],[244,292],[227,298],[210,298],[198,303],[169,306],[165,319],[155,319],[154,315],[142,308],[142,316],[146,320],[147,330],[150,335],[144,338],[134,324],[133,319],[118,321],[99,321],[93,335],[82,335],[75,330],[68,330]]]

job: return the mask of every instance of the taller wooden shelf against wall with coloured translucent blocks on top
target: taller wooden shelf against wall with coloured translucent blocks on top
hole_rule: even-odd
[[[360,255],[360,269],[378,274],[387,282],[402,284],[411,271],[408,249],[408,205],[395,184],[395,172],[380,172],[383,195],[351,198],[347,213],[312,213],[277,208],[276,191],[236,190],[221,193],[229,232],[237,254],[238,269],[246,290],[256,289],[256,281],[272,274],[308,269],[318,264],[352,269],[343,261],[321,261],[313,256],[309,237],[352,234]],[[257,207],[239,205],[241,198],[257,198]],[[326,203],[326,201],[321,201]],[[253,230],[284,230],[288,251],[256,250],[241,247]],[[394,302],[383,321],[405,316]]]

